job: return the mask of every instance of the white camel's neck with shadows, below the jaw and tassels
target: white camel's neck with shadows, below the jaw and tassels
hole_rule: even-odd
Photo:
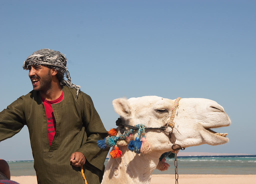
[[[153,170],[156,168],[162,151],[150,154],[136,154],[127,146],[119,147],[123,156],[109,159],[103,176],[105,183],[150,183]]]

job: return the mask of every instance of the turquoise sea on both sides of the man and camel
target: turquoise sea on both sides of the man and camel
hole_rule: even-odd
[[[177,156],[179,174],[256,174],[256,155]],[[36,176],[33,160],[7,161],[12,176]],[[108,159],[105,161],[107,164]],[[175,174],[174,159],[167,159],[169,169],[153,174]]]

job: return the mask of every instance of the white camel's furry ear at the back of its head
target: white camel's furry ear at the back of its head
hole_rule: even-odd
[[[130,103],[124,98],[118,98],[113,100],[113,106],[115,112],[118,113],[121,117],[129,119],[131,117],[131,106]]]

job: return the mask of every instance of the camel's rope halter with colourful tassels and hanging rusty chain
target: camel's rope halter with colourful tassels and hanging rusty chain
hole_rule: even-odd
[[[175,123],[173,122],[173,120],[174,120],[176,109],[178,108],[180,99],[182,98],[179,97],[175,100],[174,105],[172,107],[172,114],[169,120],[165,123],[164,126],[161,126],[161,127],[146,127],[143,124],[138,124],[135,126],[127,125],[122,123],[121,118],[118,118],[118,120],[116,120],[116,126],[120,126],[121,134],[117,136],[117,129],[112,128],[109,131],[108,137],[104,138],[103,140],[97,141],[99,148],[105,149],[106,147],[113,146],[113,149],[110,152],[110,155],[113,159],[119,158],[120,156],[122,156],[122,151],[119,150],[117,144],[121,146],[125,146],[128,144],[128,149],[135,153],[143,153],[143,154],[150,153],[152,151],[152,145],[147,141],[145,136],[145,131],[146,130],[163,130],[168,135],[170,142],[173,144],[172,150],[175,151],[175,153],[172,153],[171,151],[163,153],[159,158],[159,162],[156,168],[160,171],[167,170],[168,167],[170,167],[170,165],[165,162],[166,158],[167,157],[170,159],[175,158],[175,162],[176,162],[176,163],[174,162],[175,179],[177,183],[178,182],[177,153],[179,152],[180,149],[181,150],[185,149],[181,147],[179,144],[175,144],[176,138],[175,138],[175,135],[173,134],[173,128],[175,126]],[[172,130],[169,132],[167,131],[168,126],[172,128]],[[129,128],[129,130],[125,131],[124,127]],[[135,138],[135,140],[133,140],[134,130],[137,130],[137,137]],[[177,148],[174,148],[176,146]],[[177,174],[177,177],[176,177],[176,174]]]

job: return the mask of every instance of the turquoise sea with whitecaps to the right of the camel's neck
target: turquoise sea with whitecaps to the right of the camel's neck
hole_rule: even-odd
[[[178,157],[179,174],[256,174],[256,155]],[[174,159],[168,159],[167,171],[153,174],[175,174]]]

